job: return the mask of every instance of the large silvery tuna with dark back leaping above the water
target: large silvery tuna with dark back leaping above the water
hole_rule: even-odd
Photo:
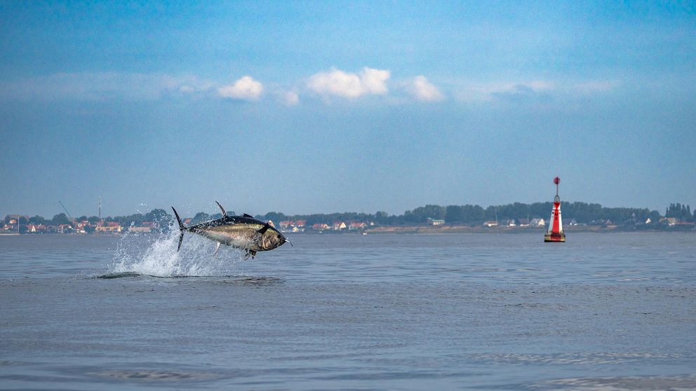
[[[186,231],[198,233],[210,240],[215,240],[215,242],[217,242],[217,247],[215,247],[215,254],[213,254],[213,256],[217,255],[217,250],[220,249],[220,245],[245,249],[246,256],[244,259],[248,259],[249,256],[253,259],[256,256],[256,252],[272,250],[276,247],[280,247],[285,242],[290,243],[282,233],[268,223],[260,221],[259,219],[254,219],[246,213],[242,216],[227,216],[225,208],[217,201],[215,201],[215,203],[217,203],[217,206],[222,210],[222,217],[220,219],[206,221],[205,223],[189,227],[185,227],[184,224],[182,224],[179,214],[174,207],[172,207],[181,231],[177,251],[181,249],[181,242],[184,239],[184,233]],[[292,245],[292,243],[290,243],[290,245]]]

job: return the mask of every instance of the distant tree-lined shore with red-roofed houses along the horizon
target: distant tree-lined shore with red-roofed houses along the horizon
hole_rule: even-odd
[[[365,214],[356,212],[288,216],[279,212],[257,215],[287,233],[380,233],[380,232],[456,232],[456,231],[523,231],[545,228],[551,203],[490,206],[425,205],[407,210],[401,215],[386,212]],[[561,205],[563,225],[570,230],[696,230],[695,216],[690,205],[669,205],[664,215],[656,210],[638,208],[609,208],[599,204],[564,203]],[[234,214],[234,212],[228,212]],[[182,219],[186,226],[219,219],[221,214],[199,212]],[[173,227],[173,217],[166,210],[154,209],[146,214],[120,217],[77,217],[65,213],[52,219],[21,214],[5,216],[0,234],[98,234],[159,233]]]

